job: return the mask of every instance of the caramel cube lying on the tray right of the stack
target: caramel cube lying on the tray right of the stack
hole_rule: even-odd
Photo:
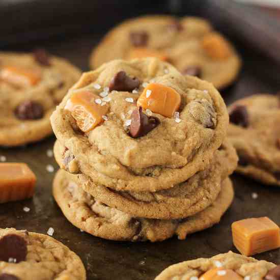
[[[232,236],[235,247],[245,256],[280,247],[279,227],[268,217],[235,221]]]

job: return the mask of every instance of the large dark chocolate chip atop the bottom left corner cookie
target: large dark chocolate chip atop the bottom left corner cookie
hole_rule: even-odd
[[[10,258],[16,263],[25,261],[27,243],[23,237],[16,234],[7,234],[0,239],[0,261],[8,262]]]

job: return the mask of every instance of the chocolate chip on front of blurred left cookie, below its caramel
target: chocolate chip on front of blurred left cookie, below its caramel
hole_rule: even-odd
[[[37,120],[43,117],[43,106],[35,101],[23,101],[15,109],[15,115],[20,120]]]

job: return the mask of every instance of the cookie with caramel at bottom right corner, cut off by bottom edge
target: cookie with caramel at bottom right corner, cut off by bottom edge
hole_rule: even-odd
[[[220,271],[218,273],[220,276],[225,275],[221,279],[276,279],[264,278],[275,267],[273,263],[258,261],[229,251],[210,259],[201,258],[172,265],[163,270],[155,280],[198,280],[200,276],[211,270],[213,273]],[[204,278],[210,279],[206,276]]]

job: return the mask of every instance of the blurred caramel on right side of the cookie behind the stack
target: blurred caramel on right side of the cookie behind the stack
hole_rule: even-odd
[[[213,59],[223,60],[231,55],[229,43],[218,33],[209,33],[204,36],[202,46]]]

